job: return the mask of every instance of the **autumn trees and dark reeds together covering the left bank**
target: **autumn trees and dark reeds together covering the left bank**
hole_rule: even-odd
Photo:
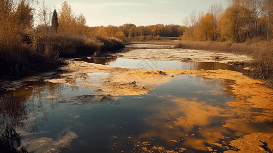
[[[57,68],[60,57],[92,55],[103,48],[124,46],[122,41],[96,35],[83,14],[75,15],[67,2],[59,12],[34,1],[0,1],[0,77],[28,75]],[[37,25],[34,25],[37,19]],[[117,37],[123,38],[121,34]]]

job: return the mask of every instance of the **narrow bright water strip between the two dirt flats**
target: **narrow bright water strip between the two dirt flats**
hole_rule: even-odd
[[[81,58],[76,61],[109,65],[112,67],[135,68],[135,69],[182,69],[182,70],[216,70],[227,69],[245,73],[244,66],[235,66],[218,62],[178,62],[178,61],[155,61],[155,60],[134,60],[123,58]]]

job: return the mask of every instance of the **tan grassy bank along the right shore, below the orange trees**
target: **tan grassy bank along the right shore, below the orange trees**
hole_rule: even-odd
[[[251,64],[252,76],[255,79],[267,81],[268,85],[273,87],[273,40],[253,39],[244,43],[231,41],[180,41],[175,47],[253,56],[256,62]]]

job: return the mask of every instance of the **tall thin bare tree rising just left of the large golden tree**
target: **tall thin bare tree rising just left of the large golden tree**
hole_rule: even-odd
[[[209,13],[213,15],[213,41],[216,41],[216,28],[217,28],[217,22],[219,19],[219,16],[221,15],[223,11],[222,4],[213,4],[209,8]]]

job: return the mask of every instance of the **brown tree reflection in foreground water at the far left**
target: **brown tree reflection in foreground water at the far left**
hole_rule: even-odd
[[[8,123],[28,132],[38,132],[38,126],[47,122],[46,102],[50,101],[52,109],[58,106],[54,98],[46,101],[45,97],[56,97],[62,88],[59,84],[42,82],[0,93],[0,128]]]

